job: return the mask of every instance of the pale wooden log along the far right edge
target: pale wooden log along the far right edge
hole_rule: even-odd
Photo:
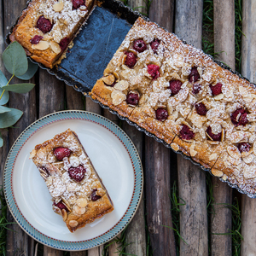
[[[244,0],[242,6],[241,74],[256,82],[256,2]],[[241,197],[241,256],[256,252],[256,199]]]

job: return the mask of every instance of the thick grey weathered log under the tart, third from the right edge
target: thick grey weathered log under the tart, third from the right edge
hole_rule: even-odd
[[[201,49],[203,1],[177,0],[175,33]],[[207,184],[198,166],[177,155],[178,194],[180,203],[180,255],[207,255]]]

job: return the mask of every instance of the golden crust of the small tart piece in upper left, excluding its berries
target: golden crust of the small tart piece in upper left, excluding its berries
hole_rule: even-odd
[[[64,53],[60,47],[53,49],[51,47],[51,42],[59,44],[62,38],[68,38],[70,44],[76,32],[78,32],[79,27],[90,13],[94,0],[86,0],[87,9],[82,9],[84,12],[83,15],[76,16],[75,20],[77,21],[72,21],[70,17],[68,17],[67,1],[62,2],[64,3],[64,8],[61,9],[60,12],[54,11],[53,6],[55,3],[59,2],[52,0],[46,3],[45,0],[33,0],[22,12],[17,25],[9,37],[11,41],[20,43],[26,50],[26,54],[30,55],[33,60],[38,61],[49,68],[54,67]],[[47,4],[49,6],[47,6]],[[79,8],[77,13],[80,12],[79,14],[81,14],[82,10]],[[69,11],[71,12],[72,9]],[[54,18],[54,15],[56,14],[58,14],[58,18]],[[50,32],[44,33],[36,27],[37,20],[41,15],[48,15],[46,19],[51,20],[53,27]],[[47,49],[45,49],[45,47],[43,49],[36,49],[35,47],[37,47],[37,44],[32,44],[30,42],[36,35],[43,37],[42,41],[49,43]]]

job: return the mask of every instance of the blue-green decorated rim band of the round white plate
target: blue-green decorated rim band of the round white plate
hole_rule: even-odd
[[[32,226],[32,224],[30,224],[29,221],[23,216],[19,207],[17,207],[17,203],[15,201],[15,196],[13,191],[13,181],[12,181],[13,175],[12,174],[15,166],[15,160],[18,154],[20,153],[21,148],[25,145],[27,140],[30,137],[32,137],[33,134],[41,130],[43,127],[56,123],[61,120],[65,120],[65,119],[87,120],[87,121],[96,123],[97,125],[101,125],[103,128],[107,129],[108,131],[111,131],[113,135],[119,139],[119,142],[124,145],[126,152],[129,154],[129,158],[131,160],[131,165],[132,165],[133,174],[134,174],[134,187],[132,191],[131,201],[129,203],[129,206],[125,210],[124,215],[107,232],[104,232],[99,236],[96,236],[94,238],[87,239],[84,241],[63,241],[63,240],[55,239],[47,235],[44,235],[39,230],[36,230]],[[104,122],[104,124],[107,124],[107,125],[103,125],[101,122]],[[119,131],[119,134],[117,134],[116,131]],[[122,136],[123,138],[121,138]],[[126,141],[126,144],[124,140]],[[134,160],[136,160],[136,163],[134,163]],[[10,182],[8,182],[8,180]],[[34,240],[40,243],[43,243],[48,247],[53,247],[55,249],[64,250],[64,251],[87,250],[93,247],[101,246],[102,244],[113,239],[115,236],[118,236],[119,233],[125,230],[125,227],[131,222],[131,219],[136,214],[137,208],[139,207],[140,202],[142,200],[143,165],[142,165],[140,156],[137,152],[137,148],[135,147],[134,143],[131,141],[131,138],[118,125],[114,124],[113,121],[107,119],[106,117],[98,113],[92,113],[85,110],[62,110],[54,113],[49,113],[44,117],[37,119],[31,125],[28,125],[26,129],[20,133],[20,136],[17,137],[17,139],[15,140],[15,143],[13,143],[12,147],[9,149],[9,154],[5,160],[4,170],[3,170],[3,191],[4,191],[5,200],[9,207],[9,212],[11,212],[13,218],[15,218],[15,222],[19,224],[20,228],[24,230],[27,235],[32,236]],[[127,218],[127,220],[124,221],[124,218]],[[113,231],[114,234],[111,234],[109,236],[108,233],[111,230],[115,230],[115,229],[117,230]],[[105,237],[102,237],[102,236],[105,236]]]

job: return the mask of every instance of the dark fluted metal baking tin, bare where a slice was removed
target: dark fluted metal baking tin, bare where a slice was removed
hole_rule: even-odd
[[[27,2],[26,6],[30,1]],[[64,81],[67,85],[73,86],[75,90],[82,92],[84,96],[89,96],[88,92],[92,90],[92,87],[96,84],[96,80],[102,77],[105,67],[107,67],[108,62],[112,59],[113,54],[119,48],[119,45],[125,39],[125,35],[138,17],[143,17],[144,20],[148,20],[147,17],[125,6],[124,3],[116,0],[105,0],[92,11],[77,37],[73,39],[73,47],[67,50],[66,58],[61,61],[60,65],[49,69],[44,67],[43,64],[33,61],[31,58],[30,60],[37,63],[39,67],[46,69],[48,73],[55,75],[57,79]],[[18,20],[19,18],[16,23]],[[6,36],[7,44],[10,44],[9,35],[15,25],[12,26],[9,34]],[[163,29],[166,30],[166,28]],[[187,44],[182,38],[180,39],[183,41],[183,44]],[[211,55],[208,56],[220,67],[228,69],[241,79],[245,79],[240,73],[233,71],[221,61],[213,59]],[[252,84],[252,86],[256,88],[255,84]],[[108,106],[103,105],[101,102],[93,101],[99,103],[102,108],[108,108]],[[129,125],[135,126],[137,130],[143,131],[148,137],[154,137],[157,142],[163,143],[167,148],[171,148],[170,144],[131,122],[130,119],[119,115],[119,113],[110,108],[108,108],[108,110],[116,114],[119,119],[125,120]],[[189,156],[182,152],[176,153],[182,154],[185,159],[190,160],[193,164],[200,166],[202,170],[212,175],[210,169],[201,166],[201,164],[195,162],[195,160],[192,160]],[[231,188],[237,189],[241,194],[256,198],[256,194],[250,194],[229,181],[224,181],[222,178],[219,179],[222,182],[228,183]]]

